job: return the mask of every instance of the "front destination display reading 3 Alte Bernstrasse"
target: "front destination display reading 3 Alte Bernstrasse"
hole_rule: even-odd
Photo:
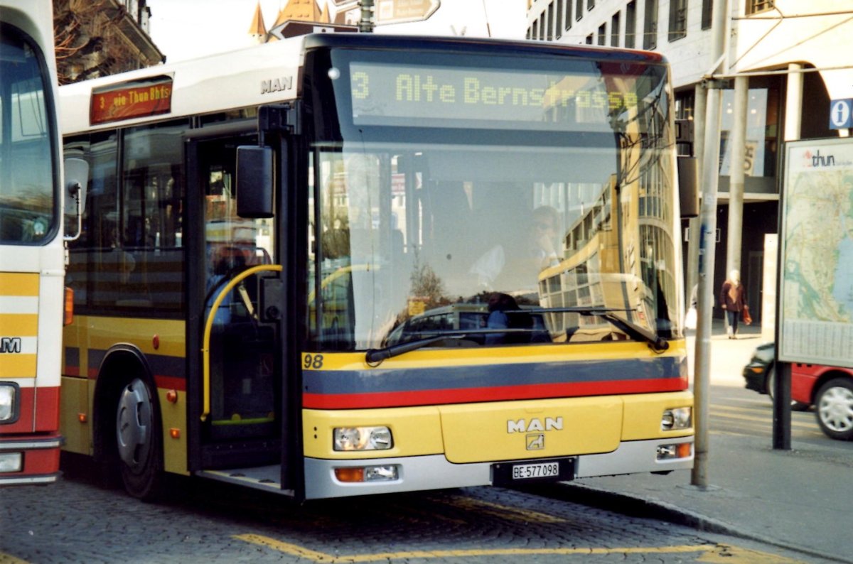
[[[637,105],[634,91],[616,88],[633,81],[593,72],[363,62],[351,63],[350,71],[357,125],[606,130],[611,112]]]

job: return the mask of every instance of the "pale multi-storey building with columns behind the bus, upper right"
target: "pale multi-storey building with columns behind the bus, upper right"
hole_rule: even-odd
[[[726,14],[717,19],[725,22],[722,60],[713,55],[715,9]],[[784,142],[850,134],[831,129],[829,112],[830,101],[853,98],[853,0],[528,0],[527,38],[662,53],[672,67],[676,119],[685,120],[682,154],[702,156],[706,81],[722,80],[714,288],[738,268],[761,319]],[[733,147],[742,147],[737,158]],[[691,288],[698,220],[685,221],[684,232]]]

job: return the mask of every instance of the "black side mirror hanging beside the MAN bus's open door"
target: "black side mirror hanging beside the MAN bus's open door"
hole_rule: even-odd
[[[270,147],[237,147],[237,215],[247,219],[273,214],[273,151]]]

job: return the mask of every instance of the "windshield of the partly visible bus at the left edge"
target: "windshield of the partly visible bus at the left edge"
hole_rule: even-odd
[[[0,32],[0,243],[39,243],[54,230],[54,131],[40,52],[11,26]]]

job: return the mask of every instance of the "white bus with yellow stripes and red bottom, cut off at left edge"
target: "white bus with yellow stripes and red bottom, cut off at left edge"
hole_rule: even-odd
[[[0,0],[0,486],[59,475],[65,291],[53,9]]]

